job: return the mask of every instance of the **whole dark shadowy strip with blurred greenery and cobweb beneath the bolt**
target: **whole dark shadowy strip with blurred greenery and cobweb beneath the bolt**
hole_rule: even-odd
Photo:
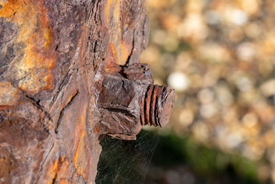
[[[193,183],[260,183],[256,161],[206,147],[189,136],[142,130],[136,141],[105,137],[101,145],[96,178],[100,184],[169,183],[167,172],[179,167],[192,174]]]

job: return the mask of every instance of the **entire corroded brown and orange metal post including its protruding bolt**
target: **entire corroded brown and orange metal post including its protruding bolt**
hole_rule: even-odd
[[[143,4],[0,0],[0,183],[94,183],[100,135],[167,123],[173,90],[146,101]]]

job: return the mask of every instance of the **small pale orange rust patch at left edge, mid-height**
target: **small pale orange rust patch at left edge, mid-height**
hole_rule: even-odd
[[[17,88],[7,81],[0,82],[0,106],[1,105],[16,105],[21,97]]]

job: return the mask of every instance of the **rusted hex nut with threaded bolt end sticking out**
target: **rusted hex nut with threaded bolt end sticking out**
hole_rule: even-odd
[[[142,125],[164,127],[175,102],[175,90],[154,85],[147,64],[116,65],[104,74],[98,106],[103,132],[116,139],[135,139]]]

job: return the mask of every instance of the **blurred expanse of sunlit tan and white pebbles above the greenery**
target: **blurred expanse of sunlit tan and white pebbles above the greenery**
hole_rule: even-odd
[[[157,83],[168,76],[177,91],[176,134],[187,130],[223,152],[265,160],[270,172],[263,167],[259,177],[275,182],[274,1],[147,4],[152,32],[142,60],[157,74]],[[188,177],[179,175],[175,182],[192,181]]]

